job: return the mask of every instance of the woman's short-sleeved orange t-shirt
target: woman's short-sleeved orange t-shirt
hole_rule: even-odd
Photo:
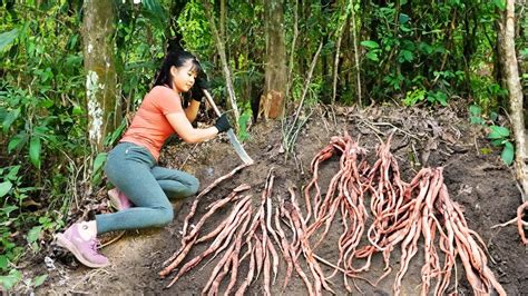
[[[185,114],[179,96],[167,87],[154,87],[145,96],[120,142],[143,146],[157,160],[165,140],[175,132],[165,116],[175,112]]]

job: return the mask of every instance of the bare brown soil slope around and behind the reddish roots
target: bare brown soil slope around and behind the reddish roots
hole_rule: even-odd
[[[275,174],[272,189],[274,197],[287,197],[290,195],[287,187],[291,185],[295,185],[297,196],[302,196],[300,188],[303,188],[312,178],[310,162],[329,144],[332,136],[343,135],[346,130],[353,139],[359,139],[360,146],[365,148],[369,155],[375,157],[380,139],[387,141],[389,135],[397,128],[391,151],[398,160],[402,179],[410,181],[422,167],[443,167],[444,184],[450,197],[462,206],[469,228],[482,237],[489,250],[489,266],[496,278],[508,295],[528,295],[528,253],[520,243],[516,226],[491,228],[493,225],[512,219],[517,207],[521,204],[514,172],[501,162],[500,151],[491,147],[486,139],[485,128],[468,122],[466,110],[442,108],[428,111],[384,106],[371,107],[360,112],[354,108],[342,107],[335,109],[335,120],[332,120],[329,114],[331,112],[327,110],[316,110],[311,116],[299,134],[294,156],[287,159],[281,149],[280,122],[270,121],[252,127],[251,138],[246,141],[245,148],[256,164],[244,168],[207,194],[199,204],[195,218],[202,217],[208,204],[225,197],[233,188],[244,182],[252,187],[250,194],[253,195],[255,201],[253,204],[258,204],[266,176],[272,167]],[[241,160],[224,138],[201,144],[197,147],[182,142],[169,144],[164,148],[160,164],[170,168],[183,168],[194,174],[201,180],[201,189],[203,189],[233,170]],[[325,193],[338,166],[339,157],[333,157],[321,167],[319,179],[322,193]],[[101,204],[107,203],[106,190],[97,193],[94,199]],[[175,220],[169,226],[163,229],[128,231],[123,238],[105,247],[101,251],[111,262],[107,268],[86,268],[71,255],[57,247],[50,247],[46,254],[32,259],[25,274],[49,275],[45,284],[36,290],[38,294],[199,294],[219,257],[205,267],[202,263],[190,269],[168,289],[165,287],[174,277],[174,273],[164,279],[158,275],[163,263],[180,246],[182,225],[193,201],[194,198],[188,198],[174,204]],[[299,203],[303,209],[303,198],[299,198]],[[205,229],[213,229],[225,218],[226,213],[227,209],[215,214],[204,225]],[[341,233],[340,227],[330,229],[327,236],[330,243],[320,249],[320,256],[331,262],[336,260],[338,247],[331,241],[336,241]],[[402,282],[403,295],[420,293],[420,272],[423,264],[422,240],[419,241],[419,251],[411,260],[411,266]],[[204,248],[205,244],[193,248],[186,260],[197,256]],[[381,257],[381,254],[374,256],[371,269],[363,274],[364,277],[375,282],[383,274]],[[356,280],[355,284],[362,293],[392,295],[394,275],[399,269],[399,250],[394,250],[391,265],[395,268],[377,287]],[[310,276],[303,260],[301,256],[301,266]],[[247,274],[246,263],[247,260],[239,266],[238,280]],[[453,278],[458,279],[459,293],[472,294],[460,262],[457,266],[458,272],[453,274]],[[332,272],[331,268],[324,268],[329,274]],[[281,260],[277,282],[272,285],[273,295],[281,293],[284,274],[285,264]],[[260,278],[250,286],[248,294],[263,294],[262,280],[261,274]],[[334,277],[331,282],[338,295],[346,294],[342,277]],[[448,292],[453,290],[454,282],[454,279],[451,280]],[[23,292],[23,287],[19,287],[19,290]],[[306,287],[295,272],[285,294],[307,294]],[[324,294],[330,295],[327,292]]]

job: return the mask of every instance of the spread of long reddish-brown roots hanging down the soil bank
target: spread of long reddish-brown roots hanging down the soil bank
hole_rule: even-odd
[[[423,168],[407,182],[401,179],[390,145],[391,137],[379,145],[375,161],[369,161],[366,150],[348,134],[333,137],[314,156],[310,181],[302,190],[290,186],[287,197],[274,194],[274,169],[270,168],[258,197],[247,194],[250,186],[242,184],[208,205],[202,217],[195,217],[203,196],[246,166],[235,168],[196,197],[185,218],[180,246],[159,275],[168,277],[177,270],[167,286],[170,287],[193,268],[215,262],[202,294],[243,295],[261,277],[266,295],[271,294],[271,285],[281,285],[284,292],[293,273],[310,295],[334,293],[332,278],[338,276],[343,277],[346,290],[354,293],[361,292],[356,280],[375,286],[387,277],[394,266],[391,255],[398,249],[394,295],[401,294],[402,279],[418,251],[424,258],[422,295],[457,293],[457,263],[463,266],[476,295],[493,290],[506,295],[488,267],[486,245],[468,227],[461,207],[449,196],[442,168]],[[320,167],[333,157],[339,157],[340,165],[323,191]],[[219,209],[231,213],[221,225],[205,231],[203,226]],[[330,229],[342,229],[334,244],[336,258],[317,255]],[[199,244],[208,245],[198,256],[187,258]],[[375,282],[364,276],[373,256],[382,256],[384,262],[384,273]],[[284,278],[277,278],[280,262],[285,263]],[[247,273],[238,273],[242,265]]]

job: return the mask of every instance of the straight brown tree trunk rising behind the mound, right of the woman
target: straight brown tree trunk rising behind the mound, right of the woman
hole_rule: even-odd
[[[260,117],[277,118],[284,114],[286,93],[286,45],[284,41],[283,1],[264,1],[266,23],[266,72]]]

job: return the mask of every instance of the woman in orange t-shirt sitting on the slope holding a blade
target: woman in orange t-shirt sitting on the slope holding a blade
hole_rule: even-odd
[[[196,129],[190,125],[199,109],[201,89],[206,86],[207,78],[196,58],[187,51],[169,49],[153,89],[119,144],[108,154],[105,172],[116,186],[109,196],[118,211],[71,225],[57,235],[59,246],[86,266],[104,267],[109,262],[97,251],[98,234],[160,227],[173,220],[169,198],[196,194],[199,182],[189,174],[157,166],[164,141],[176,132],[186,142],[202,142],[231,128],[225,115],[209,128]],[[192,88],[193,99],[184,109],[180,93]]]

